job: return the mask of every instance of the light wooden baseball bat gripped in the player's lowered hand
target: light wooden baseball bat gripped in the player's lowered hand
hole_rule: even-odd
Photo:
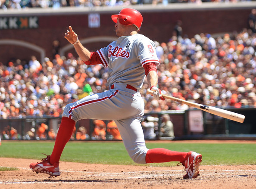
[[[153,91],[148,89],[147,94],[153,95]],[[237,121],[237,122],[240,122],[240,123],[244,122],[245,116],[241,115],[241,114],[237,114],[235,112],[230,112],[228,110],[224,110],[224,109],[221,109],[221,108],[216,108],[216,107],[209,106],[209,105],[202,105],[202,104],[198,104],[198,103],[195,103],[195,102],[189,102],[187,100],[178,99],[178,98],[168,96],[168,95],[164,95],[164,94],[162,94],[162,96],[165,99],[174,100],[176,102],[180,102],[180,103],[192,106],[194,108],[198,108],[198,109],[203,110],[205,112],[208,112],[210,114],[218,115],[222,118],[227,118],[227,119]]]

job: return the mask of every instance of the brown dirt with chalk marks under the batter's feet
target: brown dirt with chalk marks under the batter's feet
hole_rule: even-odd
[[[223,142],[223,141],[222,141]],[[183,180],[179,167],[144,167],[60,162],[59,177],[49,178],[29,169],[31,159],[0,158],[1,189],[255,189],[256,165],[200,166],[200,176]]]

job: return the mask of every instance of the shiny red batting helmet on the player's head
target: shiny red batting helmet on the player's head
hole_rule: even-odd
[[[136,25],[138,31],[140,31],[140,26],[142,24],[142,15],[139,11],[131,8],[122,9],[118,15],[112,15],[112,20],[116,23],[117,18],[119,18],[119,23],[122,25]]]

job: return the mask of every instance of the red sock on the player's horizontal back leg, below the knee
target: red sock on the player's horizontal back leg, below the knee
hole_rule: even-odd
[[[186,156],[187,152],[175,152],[163,148],[149,149],[146,155],[146,163],[183,162]]]

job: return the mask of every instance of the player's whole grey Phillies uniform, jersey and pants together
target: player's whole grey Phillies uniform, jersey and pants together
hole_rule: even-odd
[[[96,51],[98,59],[108,68],[108,91],[86,96],[66,105],[62,116],[81,119],[114,120],[125,148],[136,163],[146,163],[148,149],[140,120],[144,115],[144,101],[137,89],[142,87],[144,64],[159,65],[155,43],[144,35],[119,37],[105,48]],[[134,87],[128,87],[128,85]]]

